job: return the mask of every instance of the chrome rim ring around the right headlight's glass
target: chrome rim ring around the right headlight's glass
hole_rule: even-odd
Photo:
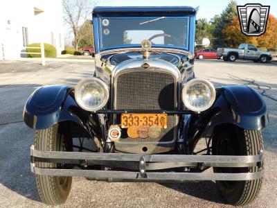
[[[205,105],[204,107],[194,107],[193,105],[190,105],[190,103],[186,102],[186,92],[189,89],[189,87],[191,85],[194,85],[195,83],[203,83],[204,85],[207,85],[208,88],[211,90],[211,99],[208,102],[208,105]],[[215,87],[210,81],[204,78],[193,78],[192,80],[189,80],[188,83],[184,85],[181,92],[181,98],[185,107],[187,107],[189,110],[192,110],[193,112],[204,112],[205,110],[208,110],[213,105],[213,103],[215,103],[215,96]]]

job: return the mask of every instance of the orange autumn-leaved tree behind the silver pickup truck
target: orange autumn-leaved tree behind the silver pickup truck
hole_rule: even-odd
[[[242,43],[255,44],[257,47],[274,50],[277,49],[277,18],[269,15],[267,21],[267,30],[265,34],[260,36],[247,36],[240,30],[240,21],[238,17],[234,17],[233,21],[222,30],[225,41],[229,47],[238,47]]]

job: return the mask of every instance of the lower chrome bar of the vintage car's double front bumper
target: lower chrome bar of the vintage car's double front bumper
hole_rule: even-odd
[[[262,177],[263,170],[255,173],[155,173],[146,172],[141,177],[139,172],[132,171],[94,171],[77,169],[37,168],[31,164],[31,171],[37,175],[78,176],[98,179],[123,179],[142,181],[187,181],[187,180],[256,180]]]

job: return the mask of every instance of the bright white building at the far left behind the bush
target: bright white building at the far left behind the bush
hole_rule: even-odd
[[[0,60],[24,57],[24,46],[35,42],[64,50],[62,1],[0,1]]]

